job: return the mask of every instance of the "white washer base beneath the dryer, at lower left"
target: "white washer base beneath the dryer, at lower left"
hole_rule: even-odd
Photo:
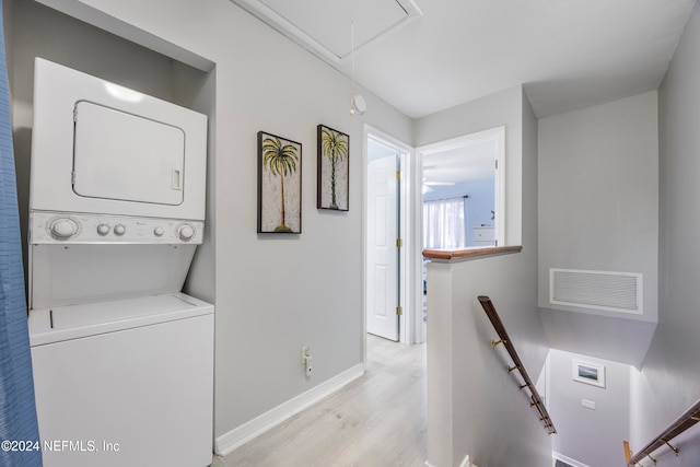
[[[213,306],[185,294],[34,310],[45,467],[208,466]]]

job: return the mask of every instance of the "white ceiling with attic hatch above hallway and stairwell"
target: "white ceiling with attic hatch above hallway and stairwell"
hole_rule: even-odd
[[[354,68],[411,118],[518,84],[538,117],[655,90],[696,2],[232,1],[348,77]]]

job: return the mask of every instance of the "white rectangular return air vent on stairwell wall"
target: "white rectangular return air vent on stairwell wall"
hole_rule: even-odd
[[[549,303],[642,314],[642,275],[549,270]]]

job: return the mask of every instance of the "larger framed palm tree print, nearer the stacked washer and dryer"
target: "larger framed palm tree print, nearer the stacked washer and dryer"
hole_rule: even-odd
[[[302,233],[302,143],[258,131],[258,233]]]

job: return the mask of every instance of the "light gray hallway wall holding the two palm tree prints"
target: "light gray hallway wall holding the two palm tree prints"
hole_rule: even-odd
[[[362,90],[368,113],[350,119],[347,77],[229,0],[61,3],[215,65],[215,255],[189,279],[195,294],[215,291],[214,435],[361,365],[362,127],[410,141],[408,117]],[[349,212],[316,210],[318,124],[350,135]],[[301,235],[256,234],[259,130],[303,145]],[[304,345],[314,350],[310,380],[299,363]]]

